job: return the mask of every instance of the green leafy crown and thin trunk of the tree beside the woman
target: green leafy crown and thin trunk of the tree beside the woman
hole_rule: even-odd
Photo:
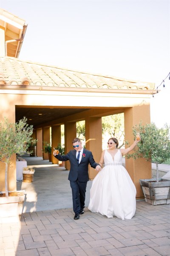
[[[134,139],[136,134],[140,133],[141,140],[134,148],[132,154],[126,157],[134,159],[143,157],[147,161],[156,163],[157,181],[158,181],[158,164],[164,163],[170,159],[170,126],[167,124],[163,128],[157,128],[155,123],[135,125],[133,128]]]

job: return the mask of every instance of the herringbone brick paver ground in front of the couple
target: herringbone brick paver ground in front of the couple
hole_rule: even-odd
[[[23,213],[0,224],[0,256],[170,256],[169,205],[137,201],[131,220],[106,218],[85,208]]]

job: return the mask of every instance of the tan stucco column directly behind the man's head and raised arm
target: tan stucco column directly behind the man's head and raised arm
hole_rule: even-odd
[[[64,123],[65,154],[73,149],[72,141],[76,136],[76,122]],[[70,170],[70,162],[65,161],[65,169]]]

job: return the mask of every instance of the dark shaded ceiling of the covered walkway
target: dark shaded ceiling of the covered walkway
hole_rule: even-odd
[[[51,122],[55,119],[60,119],[65,116],[70,116],[82,111],[86,111],[89,108],[21,108],[15,109],[15,121],[18,122],[24,116],[27,118],[28,125],[41,125],[43,123]]]

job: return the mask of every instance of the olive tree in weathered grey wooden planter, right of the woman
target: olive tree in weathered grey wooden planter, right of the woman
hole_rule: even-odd
[[[170,159],[170,127],[165,124],[163,128],[157,128],[155,123],[135,125],[133,135],[140,134],[138,148],[127,158],[143,157],[151,163],[156,163],[156,178],[139,180],[144,198],[152,205],[170,204],[170,180],[159,178],[159,164]]]

